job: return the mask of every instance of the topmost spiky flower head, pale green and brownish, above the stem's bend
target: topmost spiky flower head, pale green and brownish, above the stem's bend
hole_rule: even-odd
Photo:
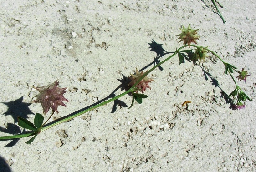
[[[181,34],[176,35],[176,36],[179,36],[179,38],[178,38],[178,39],[180,39],[179,42],[183,41],[184,45],[188,44],[190,47],[190,44],[192,42],[196,44],[196,40],[199,40],[200,36],[197,35],[197,31],[199,29],[195,29],[195,30],[191,29],[190,24],[189,24],[188,28],[185,28],[184,26],[182,26],[182,28],[180,28],[180,30],[181,30]]]

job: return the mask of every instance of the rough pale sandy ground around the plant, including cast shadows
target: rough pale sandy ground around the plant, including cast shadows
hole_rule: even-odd
[[[230,108],[222,94],[235,85],[214,56],[199,65],[178,65],[175,56],[151,73],[143,104],[128,110],[131,96],[123,96],[31,145],[1,141],[0,171],[255,172],[256,3],[217,5],[225,25],[210,0],[1,0],[0,136],[22,132],[17,116],[42,113],[30,103],[32,86],[58,79],[70,102],[51,121],[67,116],[123,92],[122,74],[147,70],[182,46],[176,35],[188,24],[200,28],[199,45],[250,72],[239,85],[252,101]]]

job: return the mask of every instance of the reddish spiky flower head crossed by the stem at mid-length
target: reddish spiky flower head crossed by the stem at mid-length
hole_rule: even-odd
[[[131,82],[128,84],[128,86],[133,86],[142,76],[144,75],[143,71],[139,72],[136,68],[136,74],[133,75],[131,74],[131,76],[129,77],[129,79],[131,80]],[[150,86],[148,85],[148,83],[150,83],[151,81],[154,81],[151,78],[148,78],[148,76],[145,76],[136,86],[135,88],[137,88],[135,90],[136,93],[138,93],[138,91],[141,91],[142,93],[144,91],[146,91],[146,88],[150,88]]]

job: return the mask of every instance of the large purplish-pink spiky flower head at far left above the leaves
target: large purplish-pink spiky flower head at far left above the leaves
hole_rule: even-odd
[[[61,105],[66,107],[63,101],[68,100],[63,96],[63,94],[67,92],[65,91],[67,88],[59,88],[57,87],[58,84],[58,81],[54,81],[48,86],[34,87],[37,91],[39,91],[39,94],[35,96],[36,100],[32,102],[41,103],[44,114],[46,114],[50,108],[53,112],[56,111],[58,113],[58,106]]]

